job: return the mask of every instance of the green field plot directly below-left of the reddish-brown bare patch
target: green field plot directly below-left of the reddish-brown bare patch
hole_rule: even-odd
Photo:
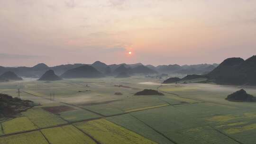
[[[26,112],[23,112],[22,114],[28,117],[39,128],[57,126],[67,123],[60,117],[51,114],[41,108],[31,108],[28,109]]]

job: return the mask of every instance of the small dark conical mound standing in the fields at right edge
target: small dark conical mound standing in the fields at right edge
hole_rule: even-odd
[[[256,97],[253,95],[247,94],[247,92],[243,89],[238,90],[226,98],[229,101],[238,101],[238,102],[256,102]]]

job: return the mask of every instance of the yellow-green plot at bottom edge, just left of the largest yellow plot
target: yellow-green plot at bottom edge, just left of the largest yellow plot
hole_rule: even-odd
[[[50,144],[96,144],[72,125],[41,130]]]

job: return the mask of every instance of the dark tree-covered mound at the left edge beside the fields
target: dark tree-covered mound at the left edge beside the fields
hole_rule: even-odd
[[[0,94],[0,117],[13,117],[33,106],[35,106],[33,101],[13,98],[7,94]]]

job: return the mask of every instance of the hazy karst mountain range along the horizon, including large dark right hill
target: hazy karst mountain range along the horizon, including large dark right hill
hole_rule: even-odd
[[[61,78],[95,78],[102,76],[123,77],[123,75],[130,76],[135,74],[161,75],[163,73],[189,74],[182,80],[207,78],[208,80],[205,82],[215,82],[217,84],[256,85],[256,55],[247,60],[243,60],[242,58],[228,58],[220,64],[182,66],[178,64],[153,66],[143,65],[142,63],[107,65],[100,61],[92,64],[76,63],[54,67],[48,67],[44,63],[39,63],[33,67],[14,68],[0,66],[0,81],[21,80],[20,77],[39,78],[42,75],[42,78],[47,76],[58,79],[57,75],[60,75]],[[170,79],[168,81],[177,80]]]

